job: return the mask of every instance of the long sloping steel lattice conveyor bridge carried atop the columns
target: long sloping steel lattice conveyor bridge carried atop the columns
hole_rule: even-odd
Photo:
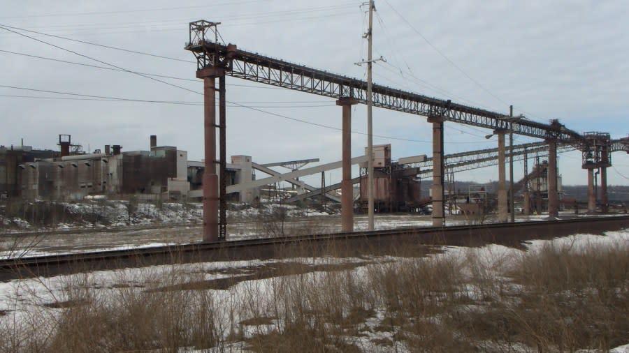
[[[220,56],[228,52],[227,45],[212,43],[211,40],[203,38],[191,39],[186,49],[196,54],[205,54],[206,57]],[[231,60],[231,66],[226,70],[226,74],[233,77],[330,98],[349,97],[354,98],[358,103],[367,103],[367,82],[363,80],[240,49],[231,56]],[[546,124],[531,121],[525,117],[513,118],[498,112],[452,103],[451,100],[442,100],[379,84],[373,85],[373,105],[425,117],[442,116],[447,121],[481,128],[494,130],[512,128],[515,134],[544,140],[551,139],[574,144],[582,141],[579,133],[559,123]]]

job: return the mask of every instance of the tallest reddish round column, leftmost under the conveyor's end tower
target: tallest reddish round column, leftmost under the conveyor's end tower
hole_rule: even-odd
[[[203,135],[205,170],[203,171],[203,241],[219,240],[219,193],[216,174],[216,77],[224,75],[221,68],[203,68],[196,77],[203,79]]]

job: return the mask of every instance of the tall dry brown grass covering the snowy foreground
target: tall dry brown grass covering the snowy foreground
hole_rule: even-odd
[[[291,255],[312,249],[292,249],[231,271],[245,276],[221,290],[187,285],[207,282],[194,266],[121,275],[104,289],[74,276],[50,288],[48,307],[2,313],[0,352],[575,352],[629,343],[627,243],[552,244],[491,261],[478,250],[410,257],[400,244],[407,257],[351,266],[339,264],[342,246],[311,262]]]

